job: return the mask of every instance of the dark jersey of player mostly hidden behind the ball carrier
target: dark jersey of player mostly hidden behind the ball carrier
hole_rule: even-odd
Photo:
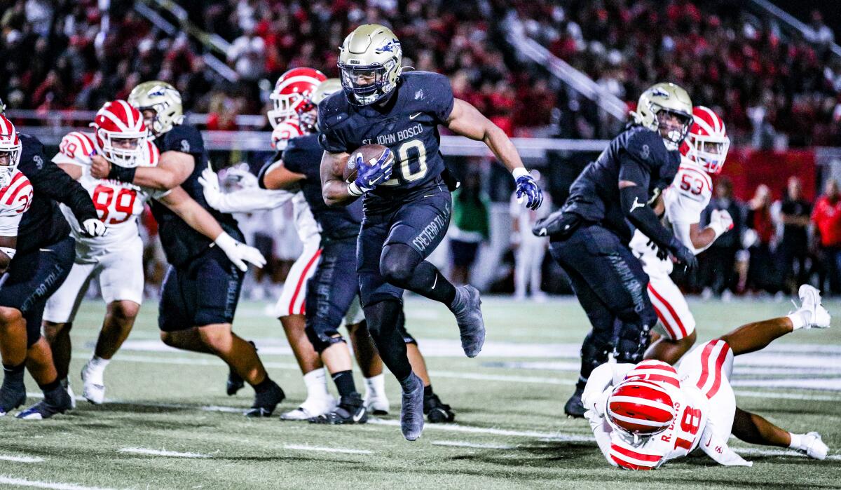
[[[321,235],[330,239],[356,237],[362,224],[362,200],[348,206],[325,205],[321,194],[321,155],[318,135],[300,136],[288,141],[286,149],[278,152],[272,162],[283,160],[283,166],[294,173],[307,176],[300,182],[301,192],[309,204],[315,221],[321,228]],[[271,163],[267,164],[267,167]],[[261,178],[262,183],[262,178]]]

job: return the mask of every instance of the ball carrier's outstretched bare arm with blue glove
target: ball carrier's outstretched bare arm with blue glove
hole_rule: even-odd
[[[505,131],[484,117],[478,109],[462,99],[455,99],[447,118],[452,132],[471,140],[484,141],[497,160],[508,168],[517,185],[517,199],[526,198],[526,207],[536,210],[543,202],[543,193],[523,166],[520,154]]]

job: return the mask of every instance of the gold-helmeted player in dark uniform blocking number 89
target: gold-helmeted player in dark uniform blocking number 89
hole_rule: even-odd
[[[91,175],[164,191],[180,185],[219,223],[211,239],[167,206],[152,202],[170,264],[158,312],[161,340],[176,349],[219,356],[254,388],[254,404],[246,415],[271,415],[283,401],[283,390],[269,378],[254,346],[231,329],[246,262],[262,267],[266,259],[243,243],[233,216],[214,210],[204,200],[198,177],[208,165],[207,152],[201,133],[183,124],[181,94],[169,83],[145,82],[131,91],[129,103],[143,115],[161,152],[160,163],[128,168],[95,157]]]

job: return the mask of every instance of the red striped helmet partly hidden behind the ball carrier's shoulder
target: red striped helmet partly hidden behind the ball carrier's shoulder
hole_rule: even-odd
[[[293,68],[278,78],[274,84],[272,99],[274,109],[268,111],[268,122],[272,128],[289,118],[297,117],[301,129],[312,132],[315,130],[315,104],[309,99],[313,90],[324,82],[327,77],[315,68]]]

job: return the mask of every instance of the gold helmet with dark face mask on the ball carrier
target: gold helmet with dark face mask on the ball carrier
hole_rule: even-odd
[[[339,48],[341,87],[347,101],[370,105],[397,87],[403,62],[400,41],[391,29],[364,24],[353,29]]]

